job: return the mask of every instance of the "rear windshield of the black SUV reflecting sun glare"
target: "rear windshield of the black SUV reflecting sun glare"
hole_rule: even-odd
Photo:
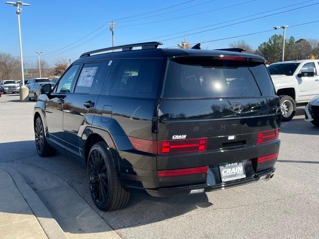
[[[197,59],[169,61],[164,98],[274,96],[266,66],[259,62]]]

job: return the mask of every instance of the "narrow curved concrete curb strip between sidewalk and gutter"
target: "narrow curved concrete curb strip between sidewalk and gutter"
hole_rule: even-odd
[[[0,163],[0,168],[6,171],[12,177],[16,187],[29,205],[48,239],[67,239],[63,230],[54,220],[51,213],[47,210],[36,193],[25,182],[24,178],[6,163]]]

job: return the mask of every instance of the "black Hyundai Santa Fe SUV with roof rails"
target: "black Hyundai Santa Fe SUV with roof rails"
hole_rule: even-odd
[[[274,174],[281,110],[264,59],[159,44],[84,53],[35,105],[38,154],[84,162],[101,210],[125,206],[131,188],[188,195]]]

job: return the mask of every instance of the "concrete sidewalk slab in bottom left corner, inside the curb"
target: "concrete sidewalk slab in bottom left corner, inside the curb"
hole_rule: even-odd
[[[0,169],[1,239],[47,239],[11,176]]]

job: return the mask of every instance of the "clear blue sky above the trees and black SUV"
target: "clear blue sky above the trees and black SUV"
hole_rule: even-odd
[[[111,32],[106,23],[113,19],[119,22],[115,27],[116,45],[152,38],[152,40],[163,41],[162,47],[176,46],[184,38],[190,43],[196,43],[270,30],[276,25],[296,25],[319,20],[317,14],[319,4],[316,4],[319,0],[28,0],[26,2],[31,6],[23,6],[21,13],[24,60],[35,62],[37,59],[35,51],[42,51],[43,59],[50,65],[60,59],[73,61],[85,51],[111,46]],[[285,7],[292,4],[296,5]],[[311,4],[315,5],[238,23]],[[154,12],[143,14],[152,11]],[[255,15],[266,11],[269,12]],[[141,15],[125,18],[137,14]],[[255,16],[246,17],[249,15]],[[242,19],[234,20],[238,18]],[[225,21],[230,22],[219,24]],[[233,23],[238,24],[209,30]],[[214,26],[202,28],[207,25]],[[319,38],[318,26],[319,22],[289,28],[287,38],[292,35],[296,39]],[[0,34],[0,51],[19,55],[15,8],[4,4],[4,1],[0,4],[0,29],[2,33]],[[96,31],[89,34],[94,30]],[[208,31],[183,36],[203,30]],[[182,31],[187,32],[170,35]],[[203,43],[202,48],[225,48],[229,46],[229,43],[242,39],[253,48],[257,48],[260,43],[268,40],[275,33],[282,34],[282,30]],[[88,36],[83,38],[86,35]],[[170,39],[174,37],[176,38]],[[70,45],[75,41],[77,41],[75,44]]]

